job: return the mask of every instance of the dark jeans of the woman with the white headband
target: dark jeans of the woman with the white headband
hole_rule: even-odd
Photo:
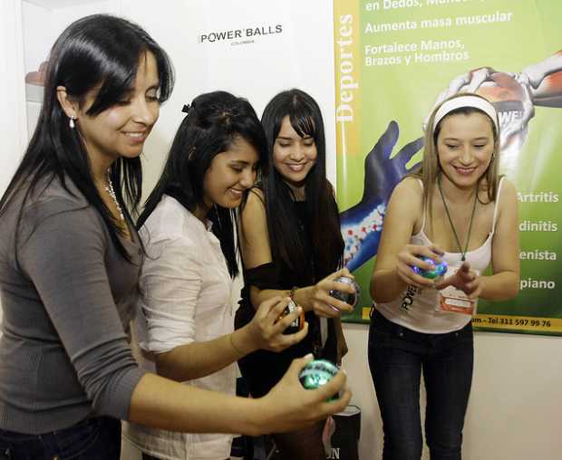
[[[473,360],[471,323],[460,331],[423,334],[373,311],[369,368],[383,418],[383,460],[422,457],[422,372],[431,460],[460,460]]]

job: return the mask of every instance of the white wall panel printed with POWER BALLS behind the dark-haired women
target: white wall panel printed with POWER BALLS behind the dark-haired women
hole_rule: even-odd
[[[121,14],[147,28],[170,53],[177,72],[176,88],[146,148],[146,188],[160,172],[161,153],[182,120],[183,104],[218,89],[246,97],[258,116],[278,91],[298,87],[312,94],[325,116],[328,168],[335,177],[333,35],[325,27],[332,20],[331,2],[172,0],[166,6],[164,20],[154,14],[152,2],[121,1]],[[247,29],[266,34],[247,36]],[[276,29],[281,32],[270,33]],[[241,38],[209,41],[228,31],[239,31]],[[314,40],[308,39],[311,34]],[[209,38],[200,42],[201,35]],[[245,41],[251,43],[239,44]]]

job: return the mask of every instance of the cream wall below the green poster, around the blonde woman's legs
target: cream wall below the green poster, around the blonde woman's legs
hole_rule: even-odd
[[[382,458],[383,429],[367,361],[367,332],[346,324],[344,367],[362,409],[360,458]],[[562,458],[560,338],[475,332],[475,369],[463,443],[465,460]],[[422,400],[423,400],[422,395]],[[423,459],[429,459],[424,449]]]

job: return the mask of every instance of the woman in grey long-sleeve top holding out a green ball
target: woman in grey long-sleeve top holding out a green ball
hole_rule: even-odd
[[[166,53],[121,18],[83,18],[53,46],[34,137],[0,199],[0,458],[117,459],[119,419],[282,431],[350,398],[325,402],[344,376],[301,388],[307,359],[250,400],[143,374],[132,358],[143,250],[129,208],[140,200],[140,152],[172,86]]]

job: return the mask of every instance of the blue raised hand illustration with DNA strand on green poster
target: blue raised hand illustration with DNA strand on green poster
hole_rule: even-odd
[[[344,263],[350,272],[376,254],[392,190],[408,172],[406,163],[422,149],[423,138],[415,139],[390,158],[399,132],[398,123],[392,120],[365,158],[361,201],[340,214]]]

